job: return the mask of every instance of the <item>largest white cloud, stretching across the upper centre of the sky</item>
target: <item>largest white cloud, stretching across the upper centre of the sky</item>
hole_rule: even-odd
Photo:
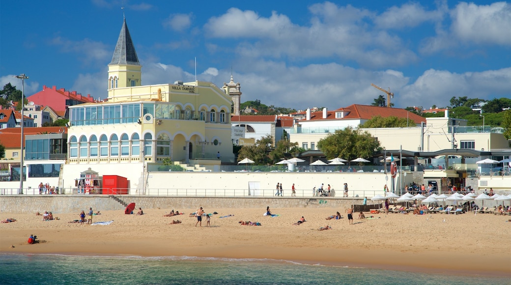
[[[298,26],[273,11],[262,17],[253,11],[229,9],[204,26],[216,38],[246,39],[234,47],[239,57],[287,58],[304,61],[337,57],[341,62],[356,61],[362,66],[401,66],[417,61],[401,38],[385,31],[371,30],[364,22],[373,14],[352,6],[332,3],[310,8],[310,26]]]

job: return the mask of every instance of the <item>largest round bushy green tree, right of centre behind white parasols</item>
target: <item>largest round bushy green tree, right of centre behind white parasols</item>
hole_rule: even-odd
[[[320,149],[327,159],[342,157],[352,160],[357,157],[371,157],[376,151],[380,151],[380,142],[368,132],[360,129],[347,127],[344,130],[336,130],[326,138],[318,141]]]

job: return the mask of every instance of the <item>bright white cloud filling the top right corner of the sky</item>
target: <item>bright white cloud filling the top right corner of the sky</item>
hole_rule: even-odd
[[[451,31],[457,38],[480,44],[511,44],[511,5],[459,3],[451,12]]]

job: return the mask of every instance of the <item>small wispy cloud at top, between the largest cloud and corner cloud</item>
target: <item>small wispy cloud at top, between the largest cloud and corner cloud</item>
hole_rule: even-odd
[[[408,29],[421,25],[423,22],[439,21],[443,11],[426,11],[419,3],[406,3],[401,7],[392,6],[375,18],[376,25],[381,29]]]

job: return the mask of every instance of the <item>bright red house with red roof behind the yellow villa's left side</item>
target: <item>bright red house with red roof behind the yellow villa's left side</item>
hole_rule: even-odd
[[[90,94],[82,96],[76,91],[67,91],[64,88],[57,89],[57,86],[49,88],[46,85],[42,86],[42,91],[27,97],[27,100],[34,102],[36,105],[50,106],[55,111],[65,111],[68,106],[94,102],[94,98],[90,97]]]

